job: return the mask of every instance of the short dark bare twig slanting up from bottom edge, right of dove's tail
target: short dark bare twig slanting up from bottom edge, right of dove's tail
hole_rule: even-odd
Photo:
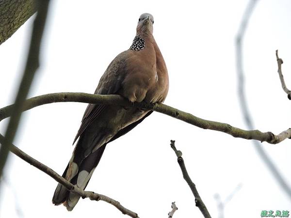
[[[195,184],[192,182],[187,170],[186,170],[186,166],[182,157],[182,152],[181,151],[177,151],[176,146],[175,146],[175,141],[171,140],[171,148],[175,151],[176,156],[178,157],[178,164],[181,168],[182,174],[183,174],[183,178],[185,179],[185,181],[187,182],[188,186],[191,188],[192,193],[194,194],[195,197],[195,205],[200,209],[201,213],[203,214],[203,216],[205,218],[211,218],[207,207],[205,206],[205,204],[203,203]]]

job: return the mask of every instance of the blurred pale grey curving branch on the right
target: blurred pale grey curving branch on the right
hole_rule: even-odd
[[[247,28],[248,20],[252,14],[252,11],[255,8],[256,3],[258,0],[250,0],[249,4],[245,10],[244,16],[242,17],[242,22],[236,37],[236,61],[237,61],[237,76],[238,76],[238,95],[239,100],[242,108],[242,114],[244,118],[244,122],[247,125],[248,129],[254,129],[253,120],[250,114],[250,111],[247,107],[247,101],[244,91],[244,72],[243,72],[243,59],[242,59],[242,41],[244,37],[244,33]],[[253,141],[256,151],[258,155],[261,157],[262,161],[266,164],[267,168],[270,170],[272,175],[274,176],[275,181],[281,186],[284,192],[288,195],[291,199],[291,188],[276,168],[275,164],[271,160],[271,157],[265,152],[263,147],[258,141]]]

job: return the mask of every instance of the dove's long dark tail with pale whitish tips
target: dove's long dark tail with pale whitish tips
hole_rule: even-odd
[[[73,154],[63,173],[63,177],[73,185],[77,185],[77,187],[84,190],[103,155],[105,147],[106,144],[102,145],[97,151],[91,153],[81,161],[76,161],[77,163],[75,162]],[[80,195],[68,191],[59,183],[52,197],[52,202],[55,205],[64,203],[66,209],[71,211],[79,199]]]

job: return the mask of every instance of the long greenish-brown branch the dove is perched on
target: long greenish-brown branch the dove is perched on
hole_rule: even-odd
[[[270,144],[276,144],[291,137],[291,129],[283,131],[279,135],[274,135],[272,132],[260,132],[259,130],[243,130],[233,127],[229,124],[204,120],[190,113],[172,108],[164,104],[148,104],[146,102],[134,103],[132,105],[119,95],[99,95],[88,93],[51,93],[32,97],[25,101],[22,110],[28,110],[40,105],[50,104],[54,102],[83,102],[90,104],[105,104],[105,105],[122,105],[128,107],[137,107],[142,109],[154,110],[188,124],[195,125],[203,129],[211,129],[220,132],[225,132],[233,137],[247,140],[266,141]],[[11,115],[13,105],[0,109],[0,121]]]

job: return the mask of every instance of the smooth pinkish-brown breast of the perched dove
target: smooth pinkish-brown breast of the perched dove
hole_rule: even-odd
[[[162,102],[168,91],[168,74],[154,38],[145,38],[142,50],[128,50],[122,93],[130,102]]]

